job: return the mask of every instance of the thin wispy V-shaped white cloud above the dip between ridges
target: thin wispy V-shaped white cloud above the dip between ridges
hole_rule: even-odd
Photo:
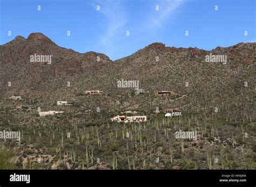
[[[128,45],[137,45],[138,42],[143,42],[148,38],[152,38],[157,34],[161,26],[169,23],[172,18],[172,13],[183,4],[185,0],[146,0],[145,6],[142,2],[138,3],[142,8],[137,8],[137,11],[145,12],[139,15],[138,19],[134,20],[133,11],[130,6],[127,6],[126,1],[119,0],[95,0],[93,6],[100,6],[99,13],[103,19],[100,24],[104,30],[98,35],[97,46],[101,51],[108,56],[117,56],[120,53],[120,44],[126,42]],[[132,1],[132,3],[134,3]],[[159,10],[156,11],[156,5]],[[146,10],[145,10],[146,9]],[[132,18],[131,18],[132,17]],[[129,22],[133,20],[134,22]],[[132,31],[132,40],[124,40],[125,31]],[[123,35],[122,35],[123,34]],[[130,39],[130,38],[129,38]]]

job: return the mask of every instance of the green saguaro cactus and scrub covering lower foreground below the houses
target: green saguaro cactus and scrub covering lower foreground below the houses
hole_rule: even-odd
[[[147,116],[147,122],[124,124],[110,120],[110,116],[122,110],[107,112],[103,108],[97,112],[93,107],[85,112],[88,109],[80,107],[82,102],[55,106],[45,99],[41,107],[51,105],[56,107],[54,110],[62,107],[61,110],[70,111],[47,117],[39,117],[35,110],[2,115],[1,130],[22,131],[22,139],[20,143],[11,140],[0,143],[9,147],[0,152],[0,166],[2,169],[255,169],[255,127],[251,125],[255,118],[247,111],[253,104],[247,103],[246,110],[239,113],[234,109],[245,104],[244,98],[237,96],[231,103],[218,104],[221,112],[215,112],[217,104],[210,103],[213,100],[210,95],[201,100],[204,105],[196,99],[179,100],[187,110],[177,117],[151,114],[156,106],[167,107],[164,104],[138,109],[139,115]],[[197,140],[176,139],[174,134],[179,130],[197,131]],[[17,147],[19,152],[15,155],[12,150]]]

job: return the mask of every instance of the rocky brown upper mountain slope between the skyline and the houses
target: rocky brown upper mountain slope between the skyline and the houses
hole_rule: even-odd
[[[149,100],[154,105],[158,100],[151,95],[158,90],[172,90],[199,100],[211,95],[219,99],[219,94],[232,99],[245,89],[244,82],[248,83],[247,93],[254,92],[255,46],[256,43],[240,43],[205,51],[154,43],[113,62],[104,54],[77,53],[57,46],[42,33],[32,33],[28,39],[16,37],[0,46],[0,94],[65,99],[98,89],[106,93],[99,98],[100,103],[109,108],[130,98],[133,89],[117,88],[117,81],[123,79],[139,81],[139,87],[146,90],[146,95],[129,99],[127,106],[145,107]],[[30,62],[30,55],[34,54],[52,55],[52,63]],[[227,64],[205,62],[205,56],[210,54],[226,55]]]

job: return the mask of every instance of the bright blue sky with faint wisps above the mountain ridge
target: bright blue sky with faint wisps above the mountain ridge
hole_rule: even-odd
[[[0,0],[0,45],[17,35],[27,38],[32,32],[41,32],[61,47],[80,53],[104,53],[111,60],[131,55],[153,42],[210,50],[256,41],[255,2]]]

